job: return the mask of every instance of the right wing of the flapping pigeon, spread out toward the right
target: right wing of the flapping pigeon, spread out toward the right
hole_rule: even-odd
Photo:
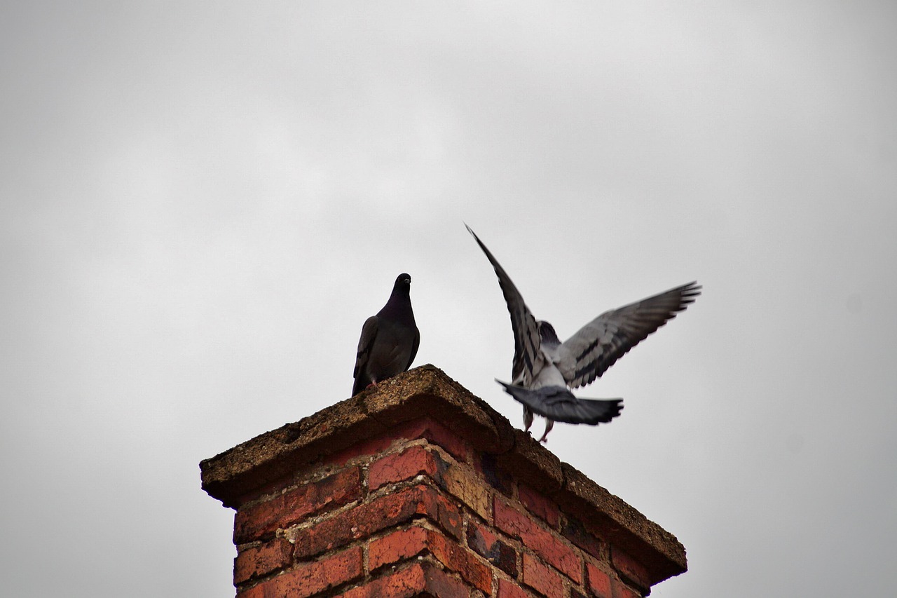
[[[650,333],[675,318],[698,295],[701,286],[692,282],[604,312],[557,348],[555,365],[570,388],[585,386]]]

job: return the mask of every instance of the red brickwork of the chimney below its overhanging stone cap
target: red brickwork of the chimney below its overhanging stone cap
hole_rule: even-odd
[[[609,533],[608,514],[436,418],[337,444],[222,498],[236,503],[238,598],[630,598],[684,570],[684,550],[681,570],[658,573],[649,540]]]

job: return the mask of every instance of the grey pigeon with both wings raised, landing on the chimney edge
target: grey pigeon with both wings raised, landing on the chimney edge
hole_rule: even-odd
[[[465,224],[466,226],[466,224]],[[467,231],[492,262],[499,286],[508,303],[511,329],[514,332],[512,383],[500,383],[515,400],[523,403],[523,421],[527,431],[533,414],[547,419],[539,442],[547,442],[555,421],[568,424],[607,423],[620,415],[622,399],[577,399],[570,389],[593,382],[614,362],[666,321],[675,318],[689,303],[701,295],[697,283],[674,289],[610,310],[588,322],[570,339],[561,342],[551,324],[536,321],[523,297],[486,249],[470,226]]]

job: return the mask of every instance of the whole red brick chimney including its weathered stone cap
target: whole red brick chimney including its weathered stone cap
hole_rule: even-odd
[[[658,524],[432,365],[200,463],[238,598],[634,598],[685,571]]]

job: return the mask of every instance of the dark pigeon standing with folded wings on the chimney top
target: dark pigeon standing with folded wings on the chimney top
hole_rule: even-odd
[[[411,367],[421,333],[414,324],[410,290],[411,277],[398,275],[387,304],[364,321],[355,357],[353,396]]]

